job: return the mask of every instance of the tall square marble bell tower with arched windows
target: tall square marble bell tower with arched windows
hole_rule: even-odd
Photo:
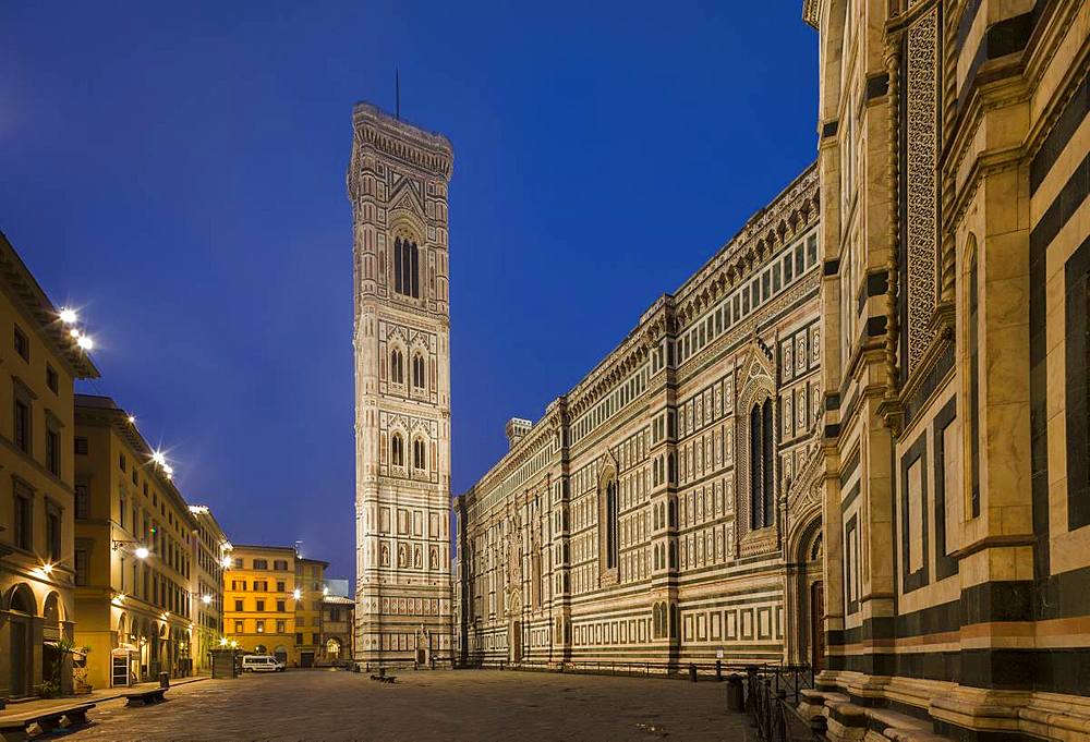
[[[453,155],[367,104],[352,126],[355,660],[449,666]]]

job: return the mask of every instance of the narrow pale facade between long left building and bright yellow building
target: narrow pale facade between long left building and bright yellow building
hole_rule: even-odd
[[[193,538],[193,669],[211,671],[211,656],[223,636],[223,570],[231,564],[231,544],[227,540],[211,510],[205,504],[191,504],[197,522]]]

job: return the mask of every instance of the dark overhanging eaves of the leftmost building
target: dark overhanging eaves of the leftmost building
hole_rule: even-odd
[[[0,232],[0,270],[3,271],[0,279],[12,289],[13,303],[22,305],[21,308],[35,321],[37,334],[61,358],[68,372],[77,379],[97,379],[98,367],[86,351],[64,332],[57,307],[3,232]]]

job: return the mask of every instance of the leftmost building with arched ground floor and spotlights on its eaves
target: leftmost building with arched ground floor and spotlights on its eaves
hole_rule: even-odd
[[[72,636],[73,379],[98,369],[81,346],[89,341],[72,334],[74,321],[65,324],[3,234],[0,326],[0,696],[20,697],[51,681],[56,643]]]

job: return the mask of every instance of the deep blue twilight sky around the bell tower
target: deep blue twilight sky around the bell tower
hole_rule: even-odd
[[[235,543],[351,576],[351,107],[446,134],[453,490],[815,157],[801,0],[0,0],[0,230]]]

